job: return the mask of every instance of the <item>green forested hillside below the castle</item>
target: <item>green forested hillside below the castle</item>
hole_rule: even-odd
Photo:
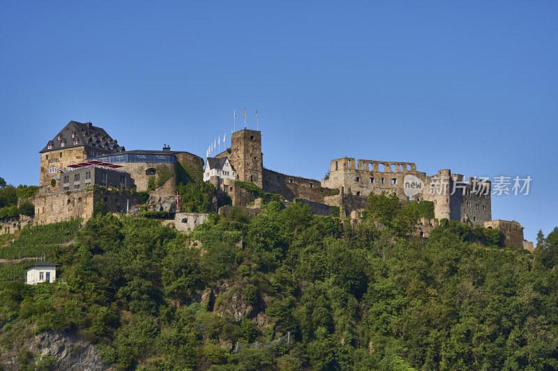
[[[112,215],[52,225],[66,235],[44,241],[23,230],[29,243],[6,238],[1,255],[46,249],[67,283],[12,281],[23,263],[3,263],[1,360],[56,369],[25,353],[31,329],[77,333],[114,370],[558,369],[558,228],[534,254],[448,221],[410,237],[428,213],[371,196],[355,228],[271,202],[188,236]]]

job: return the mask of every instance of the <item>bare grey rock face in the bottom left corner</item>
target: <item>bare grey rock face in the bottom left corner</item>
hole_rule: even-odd
[[[22,349],[29,349],[36,359],[41,356],[56,358],[55,370],[108,370],[103,363],[99,350],[89,342],[81,340],[79,336],[58,331],[45,331],[26,341],[20,347],[13,347],[2,354],[5,370],[19,370],[17,354]],[[38,355],[38,356],[37,356]]]

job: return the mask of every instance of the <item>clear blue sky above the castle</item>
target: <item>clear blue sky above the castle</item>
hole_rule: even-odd
[[[558,225],[557,37],[556,1],[2,1],[0,176],[38,184],[70,120],[203,157],[258,107],[282,173],[347,156],[530,175],[492,218],[533,240]]]

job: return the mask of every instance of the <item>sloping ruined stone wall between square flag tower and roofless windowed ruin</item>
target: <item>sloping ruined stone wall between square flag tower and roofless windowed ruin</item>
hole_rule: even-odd
[[[263,187],[265,192],[280,194],[285,200],[301,198],[314,203],[324,203],[324,192],[318,180],[294,177],[264,168]],[[328,194],[329,195],[329,194]]]

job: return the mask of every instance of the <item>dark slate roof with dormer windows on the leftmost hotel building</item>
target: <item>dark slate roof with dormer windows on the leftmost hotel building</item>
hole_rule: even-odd
[[[72,138],[72,133],[75,134],[75,138]],[[74,139],[77,139],[77,144],[74,144]],[[63,141],[66,143],[64,146],[61,145]],[[52,143],[52,148],[50,149],[48,148],[49,143]],[[61,129],[59,134],[56,134],[51,141],[47,142],[47,145],[45,145],[43,150],[40,150],[40,153],[60,150],[61,148],[80,147],[82,145],[90,145],[113,153],[124,152],[126,150],[117,143],[116,139],[112,139],[103,128],[93,126],[91,123],[83,124],[77,121],[70,121],[66,127]]]

